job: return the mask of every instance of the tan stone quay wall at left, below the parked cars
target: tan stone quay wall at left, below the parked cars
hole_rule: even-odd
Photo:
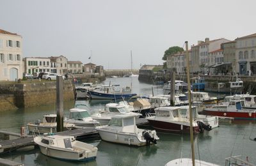
[[[19,84],[0,84],[1,94],[13,94],[15,107],[33,107],[56,103],[56,81],[23,82]],[[63,81],[63,100],[74,100],[72,80]],[[0,106],[0,109],[4,107]]]

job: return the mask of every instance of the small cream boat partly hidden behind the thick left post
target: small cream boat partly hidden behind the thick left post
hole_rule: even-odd
[[[35,123],[28,123],[29,132],[36,133],[55,133],[57,132],[57,123],[56,123],[56,114],[48,114],[45,115],[43,121],[41,122],[39,119]],[[72,123],[64,123],[63,130],[72,130],[75,124]]]

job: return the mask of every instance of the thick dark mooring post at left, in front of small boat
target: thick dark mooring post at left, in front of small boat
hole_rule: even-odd
[[[63,131],[63,78],[56,78],[56,100],[57,100],[57,132]]]

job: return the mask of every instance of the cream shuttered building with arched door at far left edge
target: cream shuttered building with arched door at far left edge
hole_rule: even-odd
[[[22,36],[0,29],[0,80],[22,79]]]

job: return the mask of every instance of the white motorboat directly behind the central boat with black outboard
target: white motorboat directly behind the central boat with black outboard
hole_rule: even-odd
[[[99,110],[98,110],[99,111]],[[120,105],[118,103],[108,103],[105,106],[104,110],[100,110],[100,112],[95,112],[95,114],[92,114],[92,119],[95,119],[100,123],[100,125],[108,124],[111,117],[116,116],[118,114],[126,114],[126,115],[134,115],[136,117],[140,117],[140,113],[131,112],[130,110],[125,107],[125,105]]]

